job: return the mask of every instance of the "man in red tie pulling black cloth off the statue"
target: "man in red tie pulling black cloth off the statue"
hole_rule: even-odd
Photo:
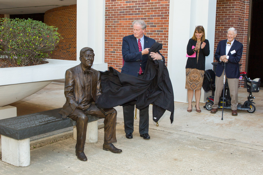
[[[148,60],[148,49],[156,41],[144,35],[146,23],[142,20],[132,22],[133,35],[125,36],[122,39],[122,57],[124,65],[122,73],[136,77],[142,77]],[[149,54],[153,60],[163,60],[165,58],[158,53]],[[143,139],[150,139],[149,131],[149,106],[140,110],[139,133]],[[134,131],[134,105],[123,106],[124,131],[127,139],[132,139]]]

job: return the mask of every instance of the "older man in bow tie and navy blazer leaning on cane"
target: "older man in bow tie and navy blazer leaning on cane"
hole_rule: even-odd
[[[240,77],[239,65],[242,53],[243,44],[236,41],[234,38],[237,35],[235,28],[231,27],[227,31],[227,39],[219,41],[217,50],[214,54],[215,59],[218,61],[216,69],[215,79],[215,94],[214,94],[214,105],[212,106],[211,113],[216,113],[219,103],[221,92],[224,88],[224,67],[226,64],[226,78],[228,81],[229,92],[231,97],[231,109],[232,115],[237,114],[238,105],[238,78]],[[223,64],[224,62],[224,64]]]

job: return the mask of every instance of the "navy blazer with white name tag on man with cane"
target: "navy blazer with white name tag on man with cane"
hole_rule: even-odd
[[[218,61],[217,63],[217,69],[216,69],[216,76],[220,77],[224,71],[223,62],[220,62],[220,56],[226,55],[226,42],[227,39],[219,41],[217,45],[217,50],[214,54],[214,58]],[[231,54],[231,51],[235,50],[236,52]],[[240,77],[240,71],[239,71],[239,65],[238,62],[240,62],[240,59],[242,57],[243,53],[243,44],[236,41],[234,41],[233,46],[231,46],[229,53],[229,59],[228,63],[226,63],[226,77],[227,78],[239,78]]]

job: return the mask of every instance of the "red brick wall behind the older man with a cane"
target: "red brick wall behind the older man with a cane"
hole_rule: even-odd
[[[244,46],[240,60],[240,71],[245,71],[247,39],[248,39],[248,15],[250,0],[217,0],[216,24],[215,24],[215,50],[219,41],[226,39],[227,29],[237,29],[236,40]],[[216,61],[214,59],[214,61]],[[244,81],[239,86],[243,87]]]

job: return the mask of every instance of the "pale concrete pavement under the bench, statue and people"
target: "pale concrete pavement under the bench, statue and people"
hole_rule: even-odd
[[[39,92],[18,101],[18,115],[60,108],[65,103],[64,84],[53,82]],[[239,102],[246,100],[246,89],[239,89]],[[102,149],[103,129],[98,143],[86,144],[87,162],[77,160],[76,141],[72,138],[31,150],[29,167],[14,167],[0,161],[0,174],[249,174],[263,172],[263,91],[256,97],[255,113],[231,110],[211,114],[204,108],[186,111],[187,104],[175,102],[174,123],[165,112],[159,126],[152,120],[150,105],[150,140],[139,136],[139,111],[134,120],[134,138],[126,139],[122,107],[117,106],[117,143],[123,150],[113,154]],[[203,105],[200,105],[203,106]],[[70,134],[70,131],[67,131]],[[58,136],[63,134],[59,133]]]

